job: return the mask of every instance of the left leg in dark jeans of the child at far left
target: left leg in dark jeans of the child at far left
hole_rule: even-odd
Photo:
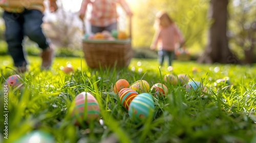
[[[26,67],[27,61],[23,52],[23,17],[17,13],[4,12],[5,20],[5,38],[8,43],[8,51],[13,58],[14,65],[17,67]]]

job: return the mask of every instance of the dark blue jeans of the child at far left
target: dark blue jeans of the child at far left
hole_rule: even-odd
[[[43,16],[39,10],[25,9],[21,13],[4,12],[5,38],[15,66],[27,65],[22,45],[24,36],[28,36],[30,40],[36,42],[42,50],[49,46],[41,29]]]

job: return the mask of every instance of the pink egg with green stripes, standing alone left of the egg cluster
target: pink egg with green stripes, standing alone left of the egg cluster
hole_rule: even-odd
[[[86,103],[87,99],[87,103]],[[90,92],[81,92],[78,94],[74,100],[75,107],[72,112],[72,117],[76,118],[76,124],[78,124],[77,120],[80,117],[81,120],[86,120],[88,123],[90,120],[95,120],[100,114],[99,104],[95,97]],[[83,111],[84,105],[86,104],[87,109],[87,118],[83,119]]]

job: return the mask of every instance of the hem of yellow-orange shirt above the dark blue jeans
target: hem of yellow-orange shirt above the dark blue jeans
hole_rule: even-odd
[[[0,7],[15,13],[22,12],[24,9],[37,9],[44,12],[43,2],[44,0],[0,0]]]

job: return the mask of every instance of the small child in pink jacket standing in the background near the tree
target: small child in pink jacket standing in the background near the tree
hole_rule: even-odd
[[[156,33],[151,45],[151,49],[155,50],[158,46],[158,60],[160,66],[163,65],[164,57],[168,58],[168,65],[172,65],[174,57],[175,44],[179,41],[183,43],[183,38],[174,21],[166,12],[159,12],[156,15]]]

